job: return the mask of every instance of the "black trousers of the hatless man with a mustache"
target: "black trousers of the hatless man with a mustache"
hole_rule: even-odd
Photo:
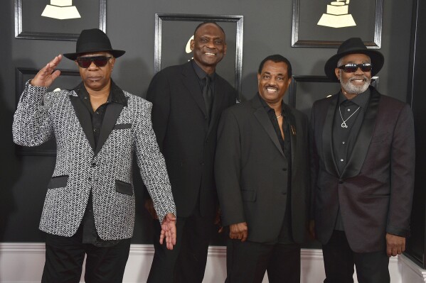
[[[300,245],[244,242],[228,239],[225,283],[300,283]]]

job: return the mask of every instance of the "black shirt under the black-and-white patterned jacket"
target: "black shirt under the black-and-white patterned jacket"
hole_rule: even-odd
[[[100,128],[102,127],[102,122],[104,121],[107,107],[112,103],[119,103],[127,106],[127,99],[124,96],[123,91],[119,89],[119,87],[117,87],[114,82],[111,81],[111,90],[107,101],[105,104],[102,104],[94,111],[92,109],[92,104],[90,103],[89,93],[84,87],[84,84],[79,84],[78,87],[75,87],[74,91],[82,101],[82,104],[84,104],[87,108],[87,111],[90,113],[90,118],[92,119],[93,135],[95,138],[95,146],[97,146],[97,141],[99,140],[100,135]],[[80,227],[82,227],[82,243],[90,243],[97,247],[111,247],[119,243],[119,240],[102,240],[99,235],[97,235],[95,216],[93,214],[92,192],[90,192],[85,215],[82,218]]]

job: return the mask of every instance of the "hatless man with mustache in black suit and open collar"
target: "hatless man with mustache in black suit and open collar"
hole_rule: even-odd
[[[215,177],[223,226],[229,226],[226,282],[300,282],[307,232],[307,116],[282,98],[292,66],[281,55],[260,63],[258,93],[223,112]]]

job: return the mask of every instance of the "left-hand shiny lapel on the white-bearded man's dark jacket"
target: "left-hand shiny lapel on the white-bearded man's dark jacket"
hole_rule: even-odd
[[[336,111],[337,101],[339,95],[336,94],[331,97],[330,104],[326,112],[326,118],[324,121],[324,128],[322,131],[322,151],[324,155],[324,165],[327,172],[339,176],[339,170],[337,169],[336,162],[334,162],[334,151],[333,151],[333,123],[334,123],[334,111]]]

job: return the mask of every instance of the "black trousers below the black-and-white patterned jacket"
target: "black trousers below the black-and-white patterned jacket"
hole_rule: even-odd
[[[80,282],[86,258],[86,283],[119,283],[129,258],[130,239],[107,248],[82,243],[82,229],[71,237],[46,235],[46,263],[42,283]]]

